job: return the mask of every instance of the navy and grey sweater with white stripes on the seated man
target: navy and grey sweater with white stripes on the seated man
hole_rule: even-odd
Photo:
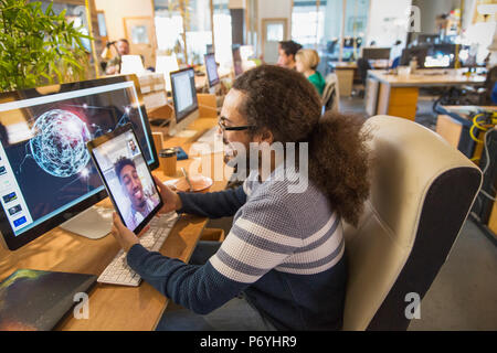
[[[198,266],[135,245],[128,265],[199,314],[243,291],[278,330],[340,329],[347,272],[340,217],[311,182],[303,193],[288,193],[289,183],[260,183],[253,173],[235,190],[180,193],[179,212],[234,215],[219,252]]]

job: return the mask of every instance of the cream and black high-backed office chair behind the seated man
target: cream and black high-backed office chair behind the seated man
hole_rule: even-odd
[[[343,226],[343,330],[406,330],[409,293],[421,300],[430,289],[482,186],[482,172],[413,121],[376,116],[364,129],[372,136],[371,194],[358,227]]]

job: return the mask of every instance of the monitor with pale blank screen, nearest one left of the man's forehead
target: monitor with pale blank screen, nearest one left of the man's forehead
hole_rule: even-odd
[[[171,73],[171,87],[176,122],[180,122],[199,109],[193,68],[189,67]]]

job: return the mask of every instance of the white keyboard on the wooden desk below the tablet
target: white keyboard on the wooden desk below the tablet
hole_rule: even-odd
[[[175,226],[179,216],[176,212],[154,217],[150,229],[140,237],[140,244],[150,252],[158,252]],[[141,277],[126,263],[126,253],[120,249],[97,279],[101,284],[138,287]]]

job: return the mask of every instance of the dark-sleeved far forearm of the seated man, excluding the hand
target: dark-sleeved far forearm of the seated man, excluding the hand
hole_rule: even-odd
[[[182,207],[178,213],[190,213],[209,218],[233,216],[246,202],[243,186],[207,194],[178,193]]]

